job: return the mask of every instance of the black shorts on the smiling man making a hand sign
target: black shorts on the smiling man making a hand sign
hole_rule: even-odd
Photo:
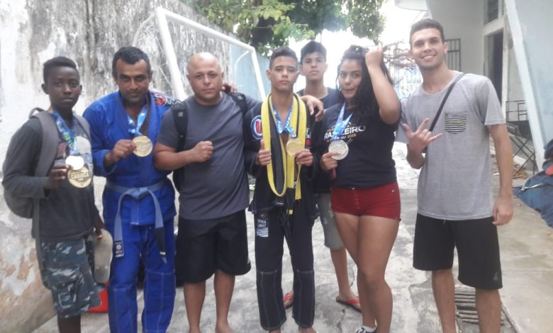
[[[423,271],[451,269],[457,247],[461,283],[480,289],[499,289],[501,262],[493,218],[438,220],[417,215],[413,267]]]

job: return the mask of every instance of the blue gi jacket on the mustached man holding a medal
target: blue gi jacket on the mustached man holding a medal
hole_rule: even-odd
[[[155,145],[162,115],[177,100],[154,91],[149,91],[148,97],[150,114],[147,116],[147,137]],[[132,154],[113,164],[110,169],[104,168],[104,156],[115,147],[116,142],[121,139],[133,139],[133,135],[128,131],[128,118],[121,94],[116,91],[95,101],[84,111],[84,118],[90,123],[94,174],[104,176],[108,182],[126,188],[152,186],[166,179],[166,184],[154,194],[160,203],[163,220],[174,218],[176,214],[174,189],[167,179],[169,172],[155,169],[153,153],[147,157],[138,157]],[[121,193],[107,187],[104,188],[102,203],[104,204],[106,223],[115,220],[120,196]],[[144,196],[140,199],[130,196],[123,198],[121,221],[133,225],[153,225],[155,223],[155,206],[151,196]]]

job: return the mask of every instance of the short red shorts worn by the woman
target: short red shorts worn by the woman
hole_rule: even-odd
[[[399,220],[401,203],[397,181],[373,188],[333,187],[330,193],[330,201],[336,213]]]

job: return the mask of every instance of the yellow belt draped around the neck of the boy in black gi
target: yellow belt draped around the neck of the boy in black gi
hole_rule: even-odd
[[[271,95],[267,96],[265,101],[262,104],[261,108],[261,126],[263,132],[263,140],[265,142],[265,149],[271,150],[271,119],[275,124],[278,125],[277,119],[278,116],[275,116],[275,113],[270,112],[270,106],[272,105]],[[271,116],[272,115],[272,116]],[[306,128],[307,128],[307,111],[306,106],[303,102],[299,101],[298,95],[294,94],[294,100],[292,102],[291,112],[289,113],[290,123],[289,126],[292,131],[298,133],[297,137],[300,142],[305,142],[306,140]],[[294,130],[295,129],[295,130]],[[269,180],[269,187],[271,191],[279,197],[283,197],[286,194],[286,189],[294,189],[295,195],[294,199],[301,199],[301,182],[299,181],[301,165],[296,164],[294,157],[289,156],[284,149],[284,144],[279,135],[279,144],[280,144],[280,154],[282,157],[282,167],[284,170],[284,186],[283,188],[276,188],[274,184],[274,172],[272,160],[267,165],[267,179]],[[294,179],[294,174],[297,174],[296,179]],[[288,213],[293,213],[293,210],[289,208]]]

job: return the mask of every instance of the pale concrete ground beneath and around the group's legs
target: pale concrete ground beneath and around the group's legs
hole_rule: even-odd
[[[413,233],[416,212],[417,172],[405,162],[405,146],[394,148],[398,182],[401,188],[403,220],[393,247],[386,280],[393,293],[392,332],[440,332],[437,311],[432,298],[430,274],[416,271],[411,266]],[[497,183],[497,176],[494,177]],[[515,180],[515,185],[521,181]],[[496,184],[497,187],[497,184]],[[255,291],[255,255],[253,252],[253,222],[248,216],[248,237],[252,271],[236,279],[229,321],[235,332],[262,332],[259,327],[257,294]],[[501,299],[504,310],[503,332],[534,333],[551,332],[553,327],[553,229],[540,216],[515,199],[515,216],[508,225],[500,227],[503,285]],[[361,316],[335,302],[337,285],[328,249],[323,245],[323,229],[315,221],[313,227],[313,253],[315,255],[315,324],[318,332],[355,332]],[[291,289],[292,273],[288,254],[284,256],[283,288]],[[350,281],[355,288],[355,265],[350,259]],[[206,301],[203,306],[201,329],[214,332],[215,297],[213,280],[207,283]],[[459,285],[460,286],[460,285]],[[142,294],[139,296],[143,304]],[[297,332],[297,325],[287,310],[288,320],[283,332]],[[140,320],[140,315],[139,315]],[[84,333],[109,332],[106,314],[87,314],[82,319]],[[461,332],[478,332],[474,324],[459,320]],[[168,332],[187,332],[182,289],[177,289],[177,299]],[[57,332],[53,318],[35,333]]]

